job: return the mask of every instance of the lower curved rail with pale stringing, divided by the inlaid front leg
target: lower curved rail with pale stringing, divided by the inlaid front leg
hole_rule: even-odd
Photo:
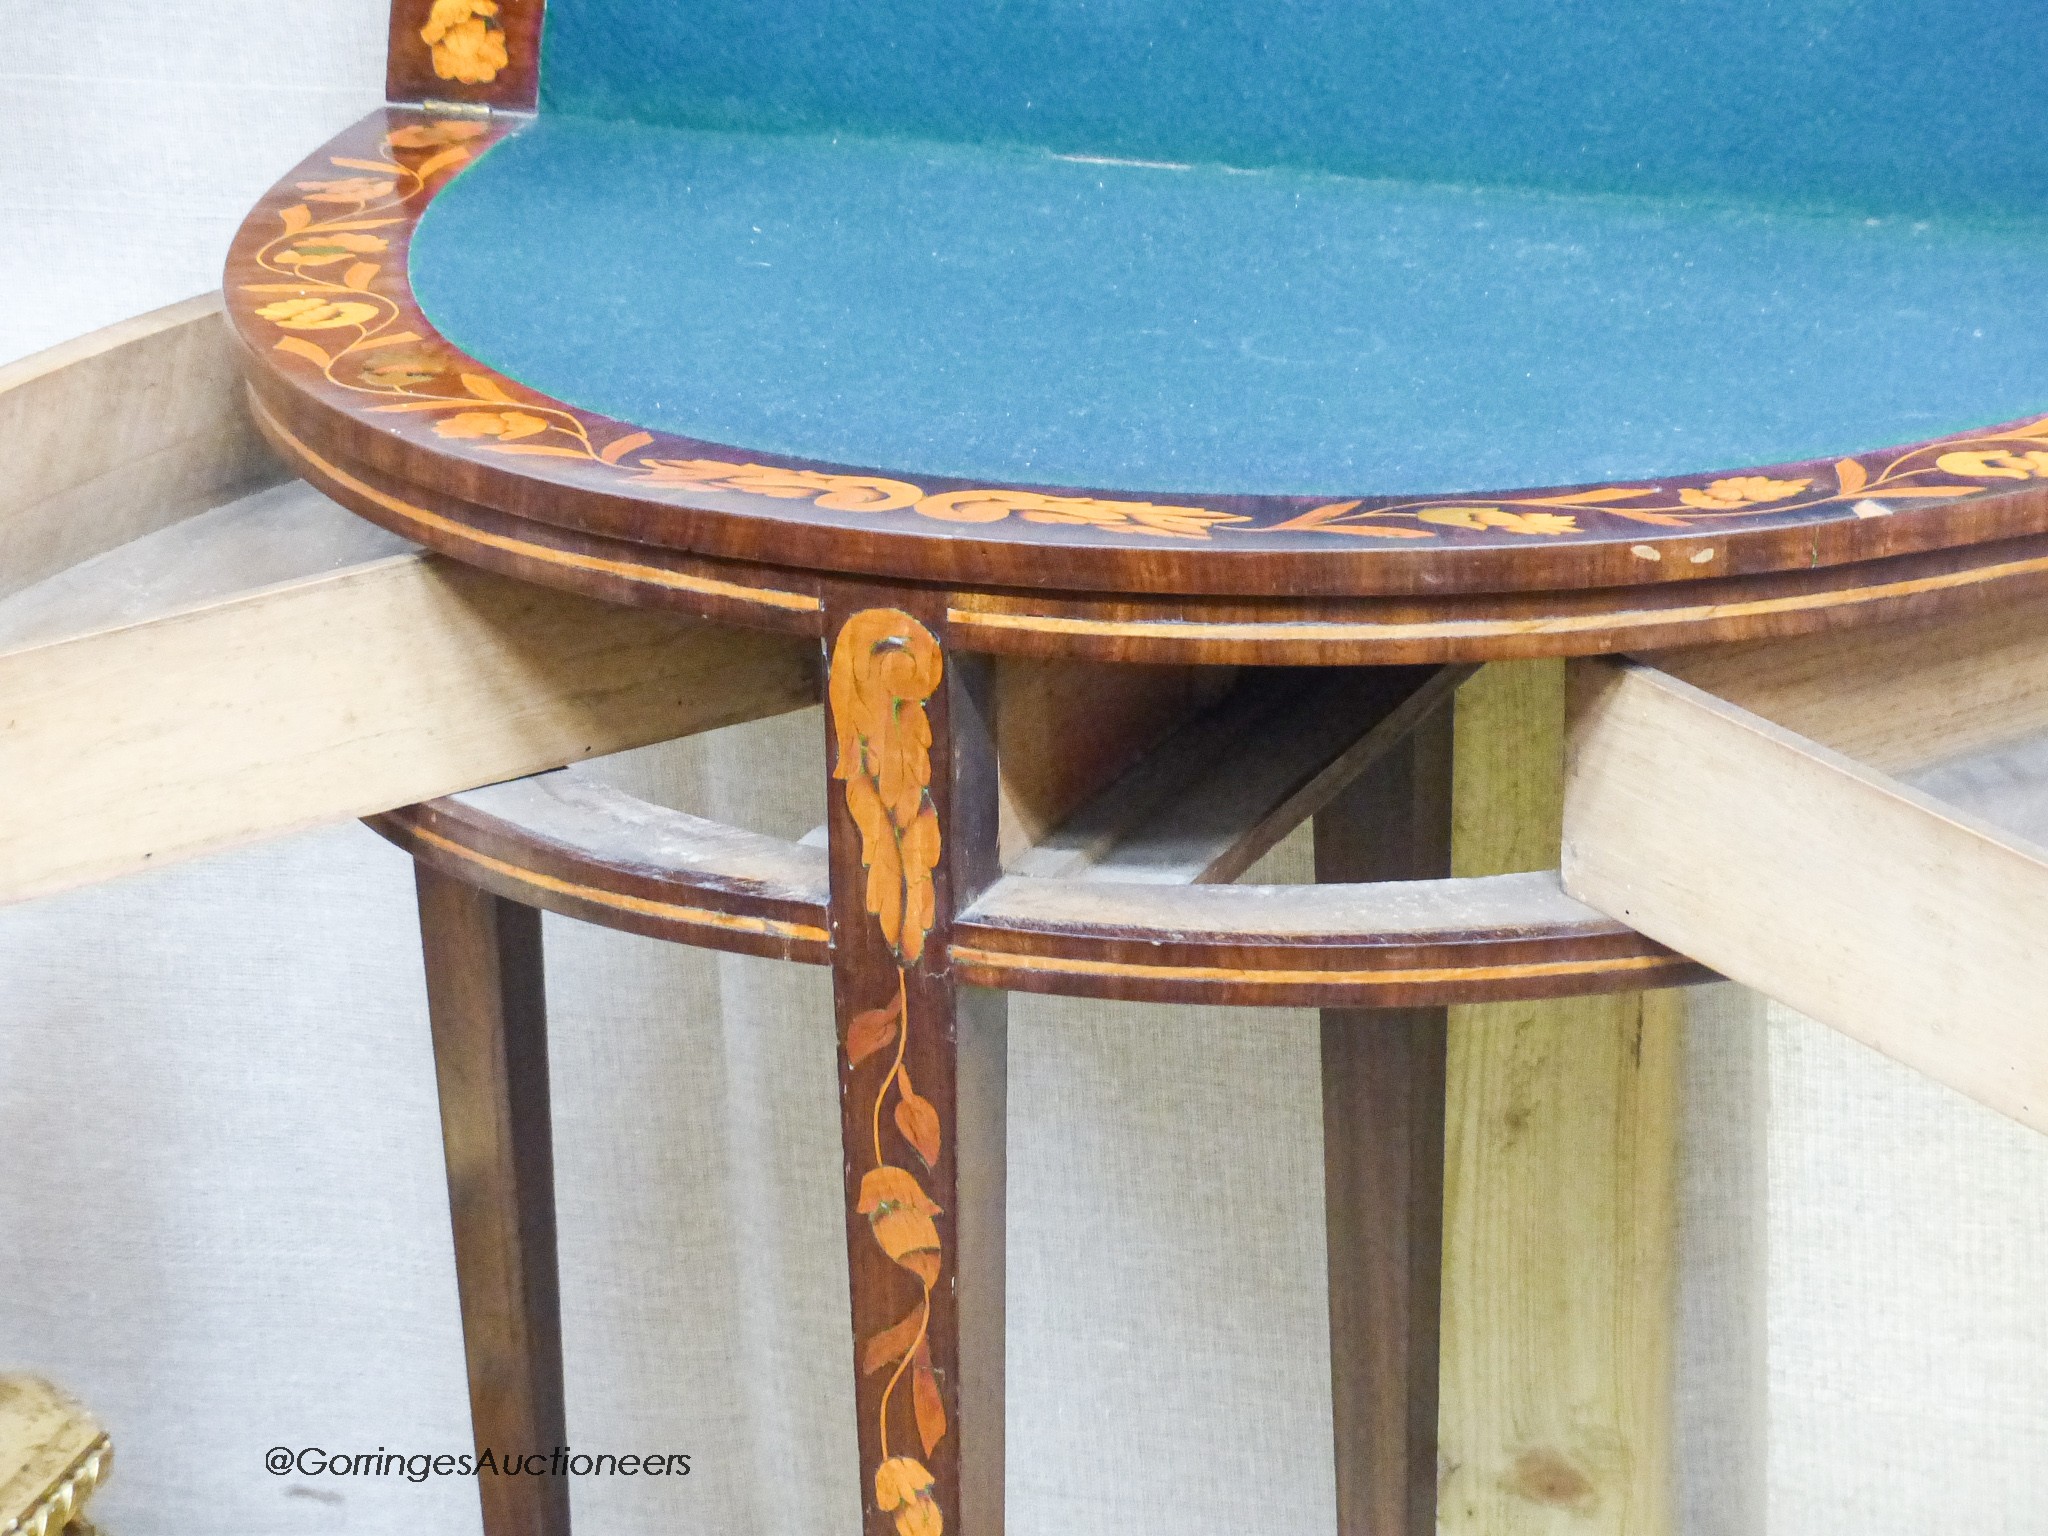
[[[705,948],[827,965],[825,850],[647,805],[571,772],[373,817],[512,901]],[[969,985],[1133,1001],[1407,1008],[1636,991],[1708,973],[1554,872],[1384,885],[1012,877],[954,928]]]

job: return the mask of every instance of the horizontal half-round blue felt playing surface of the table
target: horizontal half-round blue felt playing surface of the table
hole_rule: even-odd
[[[2048,223],[2019,217],[543,115],[430,205],[412,283],[573,406],[1040,485],[1563,485],[2048,408]]]

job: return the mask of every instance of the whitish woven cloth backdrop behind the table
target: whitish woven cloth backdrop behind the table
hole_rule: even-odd
[[[0,360],[213,285],[379,100],[383,14],[0,0]],[[819,735],[606,772],[795,836]],[[578,1518],[854,1530],[823,977],[547,938],[573,1436],[696,1468],[580,1483]],[[1331,1530],[1311,1020],[1012,1020],[1012,1530]],[[1688,1534],[2048,1532],[2048,1139],[1733,989],[1688,1092]],[[113,1530],[477,1530],[459,1481],[262,1468],[467,1444],[446,1233],[410,868],[373,834],[0,911],[0,1368],[106,1417]]]

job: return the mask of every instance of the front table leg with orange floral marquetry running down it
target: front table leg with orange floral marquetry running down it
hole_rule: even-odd
[[[995,868],[993,688],[862,596],[827,604],[827,754],[864,1530],[999,1536],[1008,1034],[946,965]]]

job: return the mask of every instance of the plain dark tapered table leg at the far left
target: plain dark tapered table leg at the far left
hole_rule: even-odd
[[[567,1444],[541,913],[418,864],[477,1456]],[[479,1473],[485,1536],[567,1536],[553,1470]]]

